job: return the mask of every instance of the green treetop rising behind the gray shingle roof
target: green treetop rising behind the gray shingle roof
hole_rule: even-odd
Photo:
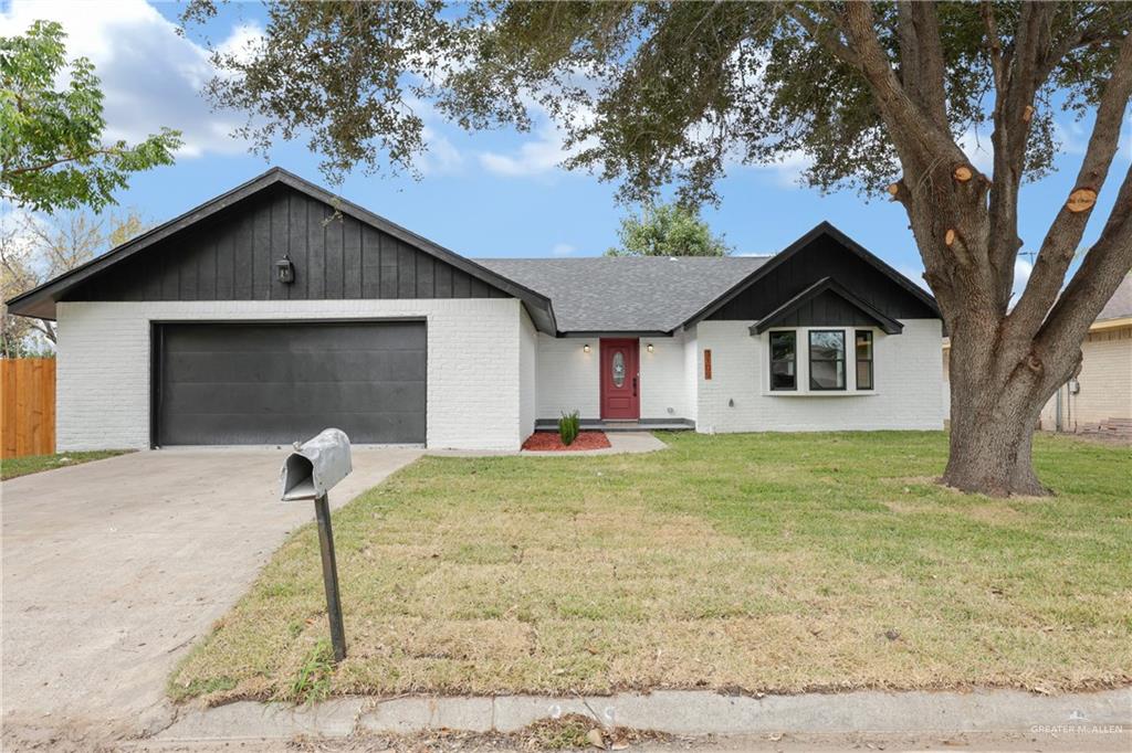
[[[678,204],[645,205],[641,215],[621,218],[620,245],[607,257],[726,257],[731,252],[695,209]]]

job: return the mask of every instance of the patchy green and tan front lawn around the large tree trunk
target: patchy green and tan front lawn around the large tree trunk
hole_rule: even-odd
[[[664,434],[667,451],[427,457],[307,526],[174,698],[1132,682],[1132,457],[1039,436],[1058,495],[936,486],[942,433]]]

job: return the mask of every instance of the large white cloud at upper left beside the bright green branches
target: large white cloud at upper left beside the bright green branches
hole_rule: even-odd
[[[144,0],[12,0],[0,11],[0,35],[24,34],[37,19],[62,24],[68,58],[84,55],[94,63],[105,95],[108,140],[138,141],[168,126],[183,135],[180,157],[246,150],[230,137],[242,115],[214,113],[199,94],[215,73],[207,51],[178,35]],[[258,33],[254,25],[238,26],[221,46],[245,49]]]

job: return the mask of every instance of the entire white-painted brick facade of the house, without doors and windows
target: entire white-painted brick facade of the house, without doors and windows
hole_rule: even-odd
[[[58,447],[149,445],[151,323],[420,318],[428,327],[431,448],[517,449],[535,418],[600,417],[600,338],[537,332],[514,298],[60,303]],[[767,390],[767,339],[748,321],[704,321],[676,337],[641,338],[641,417],[691,419],[701,432],[940,429],[940,322],[875,331],[876,389],[806,395],[805,329],[798,393]],[[590,345],[590,353],[585,345]],[[653,352],[649,353],[649,344]],[[712,350],[712,379],[703,353]]]

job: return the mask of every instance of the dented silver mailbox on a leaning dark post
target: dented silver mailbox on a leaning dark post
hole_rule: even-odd
[[[284,502],[314,500],[318,521],[318,547],[323,555],[323,586],[326,590],[326,613],[331,621],[331,643],[334,660],[346,657],[345,629],[342,625],[342,599],[338,595],[338,568],[334,560],[334,530],[331,528],[331,505],[327,493],[353,469],[350,439],[338,429],[327,429],[302,444],[295,443],[280,474]]]

